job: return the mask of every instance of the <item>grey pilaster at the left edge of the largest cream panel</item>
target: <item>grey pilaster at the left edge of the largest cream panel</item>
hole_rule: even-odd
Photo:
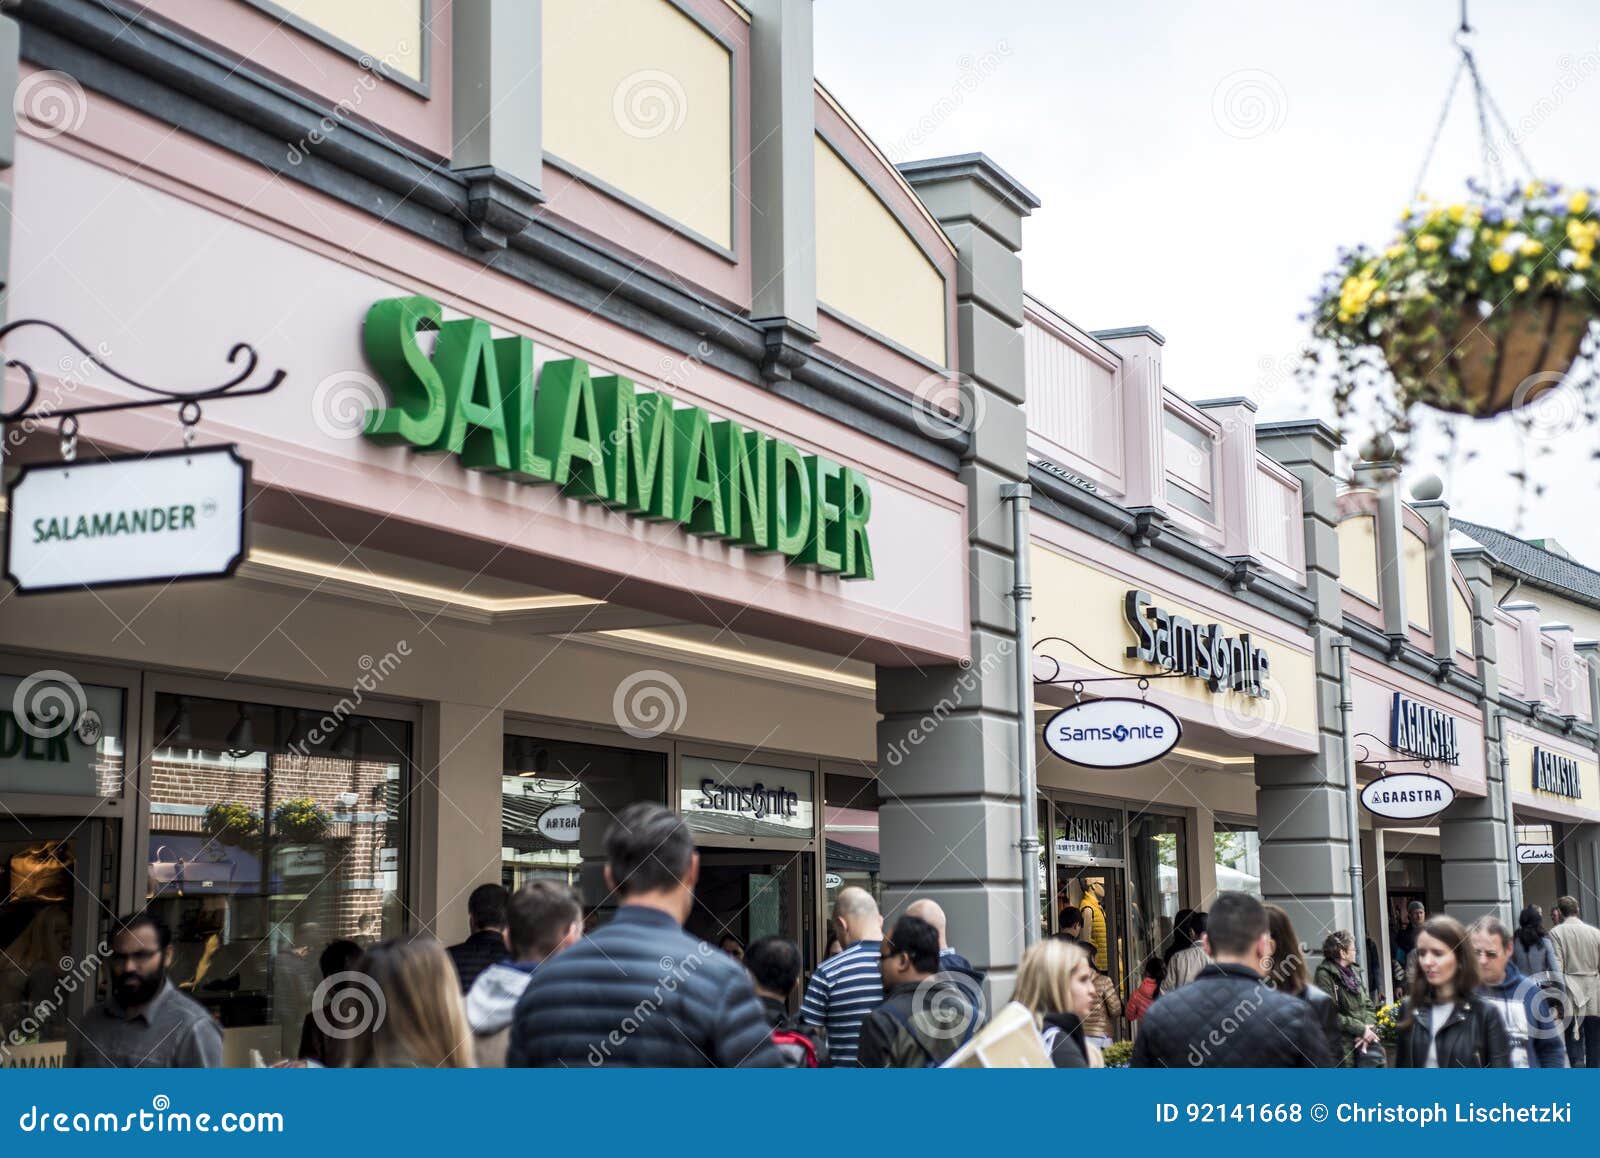
[[[539,0],[450,10],[450,165],[467,179],[467,242],[504,250],[544,200]]]

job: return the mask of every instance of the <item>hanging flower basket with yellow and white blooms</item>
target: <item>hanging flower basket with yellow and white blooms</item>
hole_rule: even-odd
[[[1530,182],[1502,195],[1469,182],[1453,205],[1406,208],[1382,251],[1341,254],[1312,302],[1312,333],[1334,347],[1346,417],[1371,353],[1411,406],[1472,417],[1520,409],[1566,379],[1589,389],[1584,353],[1600,315],[1600,208],[1592,189]]]

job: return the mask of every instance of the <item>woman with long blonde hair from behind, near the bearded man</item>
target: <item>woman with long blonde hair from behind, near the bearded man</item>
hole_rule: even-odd
[[[450,953],[434,937],[400,937],[362,958],[362,977],[330,998],[330,1036],[349,1036],[354,1068],[474,1067],[472,1027]]]

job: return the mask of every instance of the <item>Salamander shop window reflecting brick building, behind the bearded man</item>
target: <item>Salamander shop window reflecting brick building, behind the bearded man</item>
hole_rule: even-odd
[[[230,1064],[293,1057],[331,940],[405,929],[411,726],[155,697],[147,897]]]

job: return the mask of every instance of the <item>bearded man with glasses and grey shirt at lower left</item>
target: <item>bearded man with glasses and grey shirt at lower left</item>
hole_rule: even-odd
[[[133,913],[112,926],[110,996],[72,1027],[69,1067],[222,1065],[222,1030],[166,977],[171,961],[173,934],[154,913]]]

